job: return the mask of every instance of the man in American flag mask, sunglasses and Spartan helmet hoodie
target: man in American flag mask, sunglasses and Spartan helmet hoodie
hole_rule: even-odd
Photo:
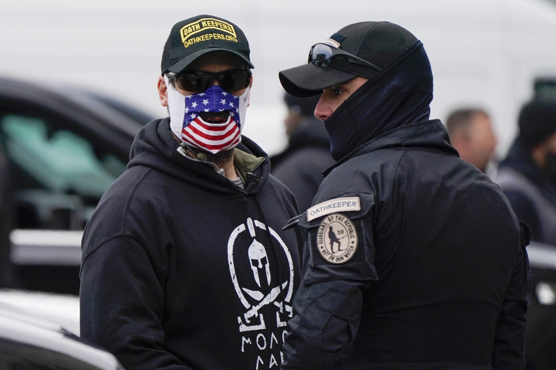
[[[249,55],[225,19],[172,27],[158,78],[170,117],[138,133],[87,224],[81,337],[126,369],[279,367],[302,235],[281,229],[294,196],[241,136]]]

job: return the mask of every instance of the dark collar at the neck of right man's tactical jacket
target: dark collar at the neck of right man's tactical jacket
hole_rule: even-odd
[[[450,138],[444,125],[439,119],[433,119],[404,125],[368,141],[326,169],[322,175],[326,176],[351,158],[388,148],[438,150],[459,157],[458,151],[450,144]]]

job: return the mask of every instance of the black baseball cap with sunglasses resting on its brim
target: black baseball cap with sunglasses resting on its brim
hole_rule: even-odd
[[[398,24],[360,22],[340,29],[325,43],[366,60],[376,67],[384,68],[417,41],[418,39],[411,32]],[[369,68],[364,77],[368,78],[369,75],[376,73],[378,70]],[[344,83],[358,75],[362,74],[353,70],[347,72],[330,65],[320,67],[310,62],[279,73],[282,87],[294,97],[311,97],[320,94],[322,89]]]

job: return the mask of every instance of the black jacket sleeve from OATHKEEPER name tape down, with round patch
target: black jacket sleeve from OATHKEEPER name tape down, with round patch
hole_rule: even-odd
[[[345,198],[356,206],[350,203],[342,209]],[[363,291],[378,279],[373,194],[342,194],[321,204],[321,216],[298,222],[307,230],[304,275],[288,323],[284,369],[339,369],[340,359],[353,351]]]

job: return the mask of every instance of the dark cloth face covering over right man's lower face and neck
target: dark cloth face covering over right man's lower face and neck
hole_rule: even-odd
[[[324,121],[336,161],[390,130],[429,119],[433,74],[417,41],[346,99]]]

